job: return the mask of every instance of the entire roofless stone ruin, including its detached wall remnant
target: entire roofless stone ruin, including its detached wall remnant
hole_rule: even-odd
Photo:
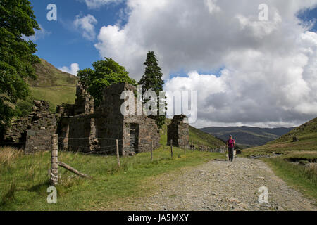
[[[136,87],[126,83],[104,89],[103,101],[95,107],[94,98],[84,86],[77,84],[75,104],[62,104],[51,113],[45,101],[34,101],[33,112],[15,120],[0,139],[1,146],[24,148],[25,153],[51,150],[51,136],[58,134],[59,150],[83,153],[116,153],[118,139],[120,155],[135,155],[159,147],[160,134],[155,120],[147,115],[123,115],[120,111],[123,91],[135,93]],[[186,146],[189,125],[184,115],[175,116],[168,126],[168,143]]]

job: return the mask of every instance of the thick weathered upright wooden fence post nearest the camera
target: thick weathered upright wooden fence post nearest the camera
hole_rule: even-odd
[[[51,136],[51,186],[58,184],[58,135]]]

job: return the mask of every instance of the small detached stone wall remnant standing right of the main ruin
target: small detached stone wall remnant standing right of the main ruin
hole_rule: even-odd
[[[185,115],[175,115],[172,122],[168,125],[168,145],[173,140],[173,146],[189,146],[189,124]]]

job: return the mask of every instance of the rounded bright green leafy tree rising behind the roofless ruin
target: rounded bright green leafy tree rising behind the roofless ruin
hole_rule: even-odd
[[[80,82],[87,86],[89,93],[94,97],[98,106],[102,101],[102,91],[106,86],[127,82],[136,85],[135,79],[129,77],[129,73],[122,65],[111,58],[92,63],[94,69],[79,70],[77,76]]]

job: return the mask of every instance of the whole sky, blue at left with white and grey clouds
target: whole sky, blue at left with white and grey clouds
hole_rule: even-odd
[[[139,80],[153,50],[166,91],[197,91],[195,127],[293,127],[316,117],[317,0],[30,1],[43,27],[37,56],[70,72],[113,58]],[[51,3],[57,21],[46,19]]]

